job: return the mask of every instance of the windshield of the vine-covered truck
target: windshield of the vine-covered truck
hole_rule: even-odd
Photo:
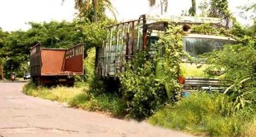
[[[231,43],[235,43],[235,41],[218,38],[183,37],[184,50],[192,57],[223,49],[225,44]]]

